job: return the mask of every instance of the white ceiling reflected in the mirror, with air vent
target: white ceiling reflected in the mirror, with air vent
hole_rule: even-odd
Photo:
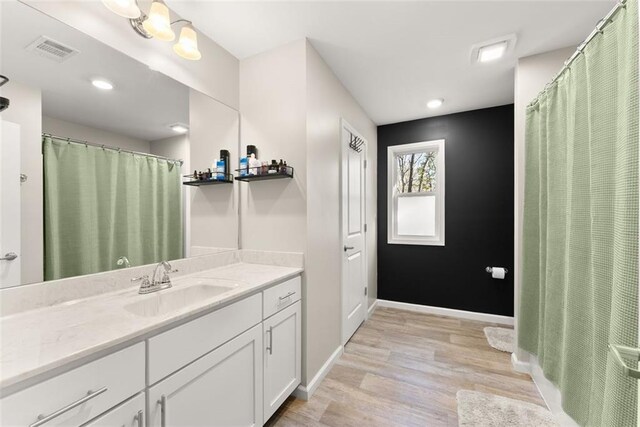
[[[18,2],[2,2],[0,74],[42,90],[43,114],[145,141],[189,123],[189,89],[175,80]],[[62,63],[28,52],[45,35],[80,51]],[[100,91],[91,79],[111,81]],[[11,84],[11,83],[8,83]]]

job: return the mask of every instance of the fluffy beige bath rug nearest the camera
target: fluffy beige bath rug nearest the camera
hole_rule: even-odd
[[[471,390],[456,393],[460,427],[559,427],[551,412],[521,400]]]

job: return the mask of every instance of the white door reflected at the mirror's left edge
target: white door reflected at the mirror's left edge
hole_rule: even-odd
[[[20,125],[0,120],[0,288],[20,284]]]

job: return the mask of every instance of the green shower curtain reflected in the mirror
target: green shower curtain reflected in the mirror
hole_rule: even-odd
[[[45,280],[182,258],[180,166],[45,136]]]

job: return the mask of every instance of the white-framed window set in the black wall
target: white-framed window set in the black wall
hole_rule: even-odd
[[[444,139],[387,148],[387,242],[444,246]]]

